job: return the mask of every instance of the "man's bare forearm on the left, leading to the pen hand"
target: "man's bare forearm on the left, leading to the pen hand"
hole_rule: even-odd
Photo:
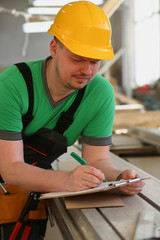
[[[2,176],[6,183],[29,191],[66,190],[67,172],[44,170],[23,162],[14,162]]]

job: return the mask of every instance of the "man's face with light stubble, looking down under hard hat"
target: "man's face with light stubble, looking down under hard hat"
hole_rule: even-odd
[[[83,88],[97,73],[100,60],[76,55],[60,43],[56,47],[54,61],[59,83],[70,90]]]

